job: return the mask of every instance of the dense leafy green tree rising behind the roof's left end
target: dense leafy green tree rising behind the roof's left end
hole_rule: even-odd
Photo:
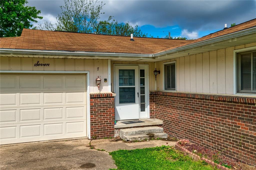
[[[23,28],[33,28],[31,22],[37,23],[36,19],[41,11],[36,7],[25,6],[27,0],[6,0],[0,1],[0,37],[20,36]]]

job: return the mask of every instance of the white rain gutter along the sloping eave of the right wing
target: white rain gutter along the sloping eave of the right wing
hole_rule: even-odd
[[[248,28],[248,29],[245,29],[245,30],[237,31],[235,33],[230,33],[230,34],[227,34],[227,35],[222,35],[222,36],[219,36],[219,37],[215,37],[215,38],[211,38],[211,39],[208,39],[208,40],[196,42],[196,43],[185,45],[185,46],[182,46],[182,47],[166,50],[166,51],[163,51],[163,52],[158,52],[158,53],[154,54],[154,57],[156,59],[159,59],[159,58],[161,58],[161,56],[165,57],[165,55],[170,55],[170,54],[177,53],[177,52],[182,52],[182,51],[185,51],[185,50],[188,50],[188,49],[193,49],[193,48],[197,48],[197,47],[201,47],[201,46],[214,44],[214,43],[229,40],[229,39],[232,39],[232,38],[248,36],[248,35],[255,34],[255,33],[256,33],[256,27],[252,27],[252,28]]]

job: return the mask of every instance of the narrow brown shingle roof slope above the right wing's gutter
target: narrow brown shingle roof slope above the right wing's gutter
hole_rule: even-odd
[[[230,27],[230,28],[227,28],[227,29],[224,29],[224,30],[217,31],[215,33],[212,33],[212,34],[206,35],[204,37],[189,41],[189,42],[187,42],[185,44],[182,44],[182,45],[177,45],[175,47],[169,47],[169,48],[161,50],[159,52],[163,52],[163,51],[166,51],[166,50],[171,50],[171,49],[174,49],[174,48],[177,48],[177,47],[182,47],[182,46],[189,45],[189,44],[194,44],[196,42],[208,40],[208,39],[211,39],[211,38],[216,38],[216,37],[219,37],[219,36],[222,36],[222,35],[235,33],[237,31],[241,31],[241,30],[244,30],[244,29],[252,28],[252,27],[256,27],[256,19],[252,19],[250,21],[238,24],[236,26],[233,26],[233,27]]]

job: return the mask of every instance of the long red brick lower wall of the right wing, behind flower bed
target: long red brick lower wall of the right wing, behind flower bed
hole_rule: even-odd
[[[150,114],[163,120],[170,136],[256,166],[255,103],[256,98],[151,92]]]

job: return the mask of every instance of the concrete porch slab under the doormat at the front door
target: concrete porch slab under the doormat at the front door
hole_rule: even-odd
[[[150,125],[162,125],[163,121],[159,119],[140,119],[144,121],[142,123],[133,123],[133,124],[124,124],[121,122],[132,121],[132,120],[118,120],[114,125],[114,128],[129,128],[129,127],[138,127],[138,126],[150,126]]]

